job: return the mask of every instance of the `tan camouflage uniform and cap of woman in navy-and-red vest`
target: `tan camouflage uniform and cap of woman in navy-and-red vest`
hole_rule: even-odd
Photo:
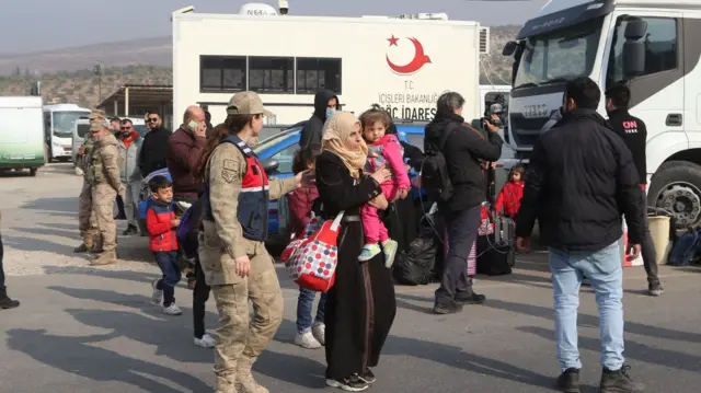
[[[234,99],[252,100],[250,94],[239,93]],[[242,102],[237,104],[243,111],[250,106]],[[240,113],[263,113],[260,99],[258,104],[260,107]],[[265,244],[245,239],[237,218],[246,159],[234,145],[221,143],[215,148],[207,166],[205,182],[214,220],[203,220],[199,258],[219,311],[215,337],[216,392],[264,393],[267,389],[253,380],[251,367],[283,321],[280,285]],[[269,199],[281,197],[296,185],[294,177],[271,180]],[[251,261],[251,271],[249,277],[241,278],[234,261],[246,255]],[[249,300],[255,310],[252,321],[249,321]]]

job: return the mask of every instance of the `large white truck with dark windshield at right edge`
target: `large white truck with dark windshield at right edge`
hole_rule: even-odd
[[[562,105],[565,81],[589,77],[602,91],[627,82],[631,114],[647,125],[647,201],[679,226],[701,223],[701,1],[558,0],[526,22],[514,56],[508,141],[528,160]],[[606,116],[605,100],[599,113]]]

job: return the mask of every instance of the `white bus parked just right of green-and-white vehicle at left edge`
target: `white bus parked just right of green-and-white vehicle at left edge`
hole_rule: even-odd
[[[81,117],[90,116],[90,109],[76,104],[44,106],[44,137],[48,151],[48,162],[71,160],[76,122]]]

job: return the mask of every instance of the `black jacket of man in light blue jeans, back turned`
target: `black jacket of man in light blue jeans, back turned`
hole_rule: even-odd
[[[643,210],[631,152],[595,111],[575,109],[542,134],[530,158],[516,234],[556,250],[598,251],[622,235],[640,244]]]

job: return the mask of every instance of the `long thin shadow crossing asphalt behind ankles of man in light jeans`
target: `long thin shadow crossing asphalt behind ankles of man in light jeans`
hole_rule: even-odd
[[[628,323],[625,326],[628,327]],[[517,327],[516,330],[524,333],[530,333],[549,340],[554,340],[555,337],[555,332],[537,326]],[[594,352],[599,352],[601,350],[601,340],[599,340],[599,338],[590,338],[581,335],[578,344],[579,348],[585,348]],[[625,358],[692,372],[698,372],[699,365],[701,365],[701,357],[676,350],[655,348],[631,339],[625,340]]]

